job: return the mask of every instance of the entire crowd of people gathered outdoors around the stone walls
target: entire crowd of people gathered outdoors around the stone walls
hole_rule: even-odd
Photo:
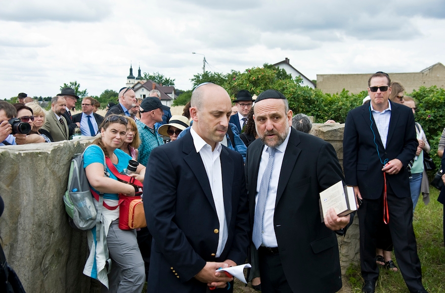
[[[424,293],[413,214],[420,194],[429,201],[423,155],[430,146],[414,121],[416,101],[404,91],[386,73],[369,78],[369,96],[346,118],[344,175],[333,146],[308,134],[310,118],[294,116],[281,92],[268,89],[254,100],[240,90],[232,105],[210,82],[173,116],[157,90],[137,99],[131,87],[121,88],[105,117],[92,97],[71,116],[79,99],[71,88],[53,97],[48,113],[24,104],[20,93],[15,105],[0,101],[0,145],[68,140],[79,130],[96,136],[84,168],[107,205],[106,241],[91,250],[84,273],[105,291],[141,292],[145,281],[149,292],[232,291],[233,278],[216,270],[247,260],[257,290],[336,292],[336,234],[346,233],[354,214],[321,215],[319,193],[343,181],[358,198],[363,292],[375,291],[380,265],[400,269],[410,292]],[[23,122],[26,133],[19,131]],[[445,129],[442,136],[443,153]],[[117,180],[107,160],[118,171],[140,162],[131,176],[144,182],[146,228],[118,227],[118,193],[136,190]],[[106,258],[97,258],[105,251],[111,272]]]

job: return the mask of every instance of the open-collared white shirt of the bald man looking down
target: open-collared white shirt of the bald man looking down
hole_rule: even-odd
[[[202,163],[204,163],[210,189],[212,190],[213,202],[215,203],[216,215],[219,221],[218,247],[215,257],[219,257],[226,247],[228,236],[226,210],[224,208],[224,196],[222,193],[221,160],[219,158],[222,146],[219,142],[216,142],[215,149],[212,152],[212,147],[196,133],[193,127],[190,128],[190,133],[192,134],[196,152],[199,153]]]

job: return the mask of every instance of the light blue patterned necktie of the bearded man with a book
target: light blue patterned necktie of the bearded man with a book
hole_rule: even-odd
[[[252,231],[252,241],[256,249],[259,248],[262,242],[262,222],[264,217],[264,210],[266,207],[266,202],[268,201],[269,194],[269,184],[271,182],[272,167],[274,166],[275,159],[275,148],[269,148],[269,161],[266,166],[264,173],[261,178],[261,183],[259,185],[258,199],[256,201],[255,216],[253,218],[253,231]]]

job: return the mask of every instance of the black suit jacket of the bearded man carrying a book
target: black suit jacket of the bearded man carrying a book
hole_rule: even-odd
[[[341,288],[337,237],[321,221],[320,191],[343,180],[333,146],[291,127],[275,203],[274,227],[280,260],[294,292],[336,292]],[[246,176],[250,221],[264,144],[247,149]]]

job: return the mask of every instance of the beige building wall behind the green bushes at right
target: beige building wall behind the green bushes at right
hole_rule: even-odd
[[[317,88],[326,93],[337,93],[344,89],[351,93],[359,93],[368,87],[368,79],[372,73],[364,74],[317,74]],[[398,81],[406,92],[412,92],[420,86],[445,88],[445,66],[436,63],[420,72],[388,73],[391,81]]]

